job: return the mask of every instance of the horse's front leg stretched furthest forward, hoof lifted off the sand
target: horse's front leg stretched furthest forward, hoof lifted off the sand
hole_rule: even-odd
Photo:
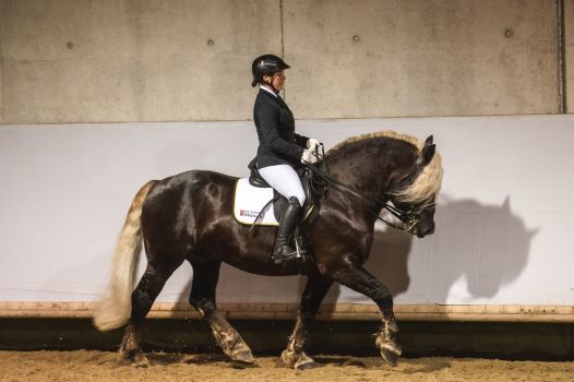
[[[398,325],[393,312],[393,297],[388,288],[362,266],[358,265],[349,265],[343,270],[337,270],[334,272],[333,278],[346,287],[371,298],[379,306],[383,314],[383,322],[381,331],[376,335],[375,344],[381,350],[381,356],[392,366],[396,366],[402,348]]]

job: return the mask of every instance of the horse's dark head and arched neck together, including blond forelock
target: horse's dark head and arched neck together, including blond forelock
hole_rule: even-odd
[[[337,144],[327,157],[337,176],[350,179],[363,195],[378,203],[392,202],[384,208],[403,225],[388,225],[418,237],[434,231],[434,201],[442,167],[432,135],[422,142],[394,131],[368,133]],[[373,177],[376,169],[384,169],[385,176]]]

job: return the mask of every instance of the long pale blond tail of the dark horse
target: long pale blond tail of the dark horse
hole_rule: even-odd
[[[142,250],[142,207],[150,190],[157,183],[151,180],[135,194],[111,259],[109,283],[104,297],[94,306],[94,324],[100,331],[120,327],[131,315],[131,295]]]

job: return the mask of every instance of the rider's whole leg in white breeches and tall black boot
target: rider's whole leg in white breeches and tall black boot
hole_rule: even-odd
[[[277,238],[273,250],[273,261],[280,263],[297,254],[297,251],[290,244],[290,238],[301,214],[304,203],[304,191],[299,176],[289,165],[263,167],[259,172],[271,187],[289,201],[287,210],[285,210],[279,219]],[[304,254],[301,249],[299,253]]]

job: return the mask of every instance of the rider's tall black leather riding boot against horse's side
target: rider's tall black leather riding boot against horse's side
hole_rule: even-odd
[[[289,199],[289,205],[283,213],[279,219],[279,227],[277,228],[277,238],[275,239],[275,248],[273,249],[272,256],[275,264],[280,264],[297,255],[297,250],[291,246],[291,234],[300,213],[301,205],[299,204],[299,200],[291,196]],[[299,249],[299,254],[304,255],[306,253],[302,249]]]

